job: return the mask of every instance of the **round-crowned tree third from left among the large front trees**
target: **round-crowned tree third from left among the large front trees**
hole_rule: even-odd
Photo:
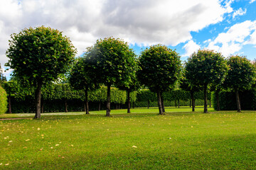
[[[180,56],[165,45],[153,45],[146,48],[139,58],[137,75],[141,84],[157,94],[159,114],[163,115],[161,93],[171,89],[181,72]]]

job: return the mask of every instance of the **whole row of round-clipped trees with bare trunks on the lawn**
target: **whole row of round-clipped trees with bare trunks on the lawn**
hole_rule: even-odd
[[[18,81],[35,89],[35,118],[41,117],[42,86],[59,79],[68,70],[73,88],[85,92],[86,113],[89,113],[88,91],[107,86],[106,116],[110,116],[111,86],[126,90],[128,103],[131,91],[146,86],[157,94],[160,115],[164,114],[162,94],[165,91],[181,84],[182,89],[191,91],[194,108],[193,92],[203,89],[204,113],[207,113],[209,88],[220,91],[225,82],[229,88],[239,91],[250,86],[255,79],[255,69],[245,57],[230,57],[227,62],[220,53],[211,50],[198,50],[182,67],[178,53],[165,45],[146,48],[138,58],[127,42],[112,37],[97,40],[82,57],[75,60],[76,50],[69,38],[58,30],[44,26],[21,30],[11,35],[9,42],[6,51],[9,62],[6,66],[14,69],[12,75]],[[238,95],[237,98],[239,106]],[[130,103],[128,113],[129,108]]]

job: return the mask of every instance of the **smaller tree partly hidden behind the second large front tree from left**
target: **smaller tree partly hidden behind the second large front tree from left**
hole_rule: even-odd
[[[69,81],[74,89],[85,91],[85,113],[89,114],[88,91],[99,89],[100,84],[95,81],[94,69],[87,62],[86,55],[75,61]]]

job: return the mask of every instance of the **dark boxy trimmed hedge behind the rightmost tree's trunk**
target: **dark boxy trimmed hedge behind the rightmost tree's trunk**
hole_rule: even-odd
[[[256,110],[256,90],[247,90],[239,93],[242,110]],[[235,92],[220,91],[220,111],[236,111],[238,106]],[[213,107],[217,110],[217,100],[213,93]]]

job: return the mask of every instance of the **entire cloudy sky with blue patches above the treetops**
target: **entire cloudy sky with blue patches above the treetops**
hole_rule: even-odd
[[[205,47],[254,60],[255,9],[256,0],[1,0],[1,67],[8,61],[11,33],[36,26],[63,31],[78,55],[97,39],[113,36],[137,54],[161,43],[176,49],[181,60]]]

